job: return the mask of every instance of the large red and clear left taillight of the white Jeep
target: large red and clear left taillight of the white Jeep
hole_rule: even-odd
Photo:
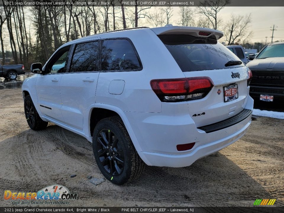
[[[156,79],[152,90],[163,102],[188,101],[204,98],[214,86],[209,77]]]

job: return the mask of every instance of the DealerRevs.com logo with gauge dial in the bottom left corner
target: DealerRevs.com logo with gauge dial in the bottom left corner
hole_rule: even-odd
[[[6,190],[4,199],[11,200],[13,205],[18,204],[69,204],[76,200],[77,194],[72,194],[62,185],[47,186],[38,192],[12,192]]]

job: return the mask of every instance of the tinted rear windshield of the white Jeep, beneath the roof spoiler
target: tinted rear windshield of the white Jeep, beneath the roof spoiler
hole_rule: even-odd
[[[198,38],[192,35],[158,35],[183,72],[242,67],[226,67],[228,61],[240,59],[214,37]]]

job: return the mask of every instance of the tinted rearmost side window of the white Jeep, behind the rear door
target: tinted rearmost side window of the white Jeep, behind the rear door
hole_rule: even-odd
[[[141,70],[131,43],[126,39],[101,41],[101,70]]]

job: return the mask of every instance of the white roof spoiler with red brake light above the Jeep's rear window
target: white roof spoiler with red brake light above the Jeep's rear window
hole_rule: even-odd
[[[165,26],[158,28],[150,28],[156,35],[165,34],[182,34],[182,35],[192,35],[200,38],[207,38],[215,35],[216,39],[222,38],[224,33],[219,30],[213,30],[208,28],[198,28],[198,27],[180,27],[180,26]]]

